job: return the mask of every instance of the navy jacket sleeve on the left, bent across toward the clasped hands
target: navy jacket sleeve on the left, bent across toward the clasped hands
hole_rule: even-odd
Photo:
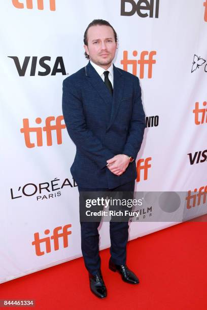
[[[62,112],[67,132],[77,149],[102,169],[115,155],[87,128],[81,95],[74,83],[65,80],[62,84]]]

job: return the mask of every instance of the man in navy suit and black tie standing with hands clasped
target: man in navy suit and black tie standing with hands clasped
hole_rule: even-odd
[[[93,20],[84,34],[88,64],[63,81],[62,111],[76,144],[71,167],[82,191],[134,191],[135,159],[145,130],[139,79],[115,67],[117,34],[109,22]],[[91,291],[107,296],[100,270],[97,222],[81,223],[81,248]],[[110,221],[109,268],[122,280],[139,283],[126,265],[128,222]]]

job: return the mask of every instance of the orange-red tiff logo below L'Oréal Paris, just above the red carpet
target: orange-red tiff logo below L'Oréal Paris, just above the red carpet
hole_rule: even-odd
[[[63,226],[63,228],[62,228],[62,226],[55,227],[53,229],[53,235],[51,237],[45,237],[42,239],[40,239],[39,232],[34,232],[34,240],[32,241],[31,244],[34,245],[36,254],[38,256],[45,254],[44,251],[41,251],[41,247],[40,247],[41,243],[45,244],[46,253],[50,253],[51,252],[50,240],[53,240],[54,250],[55,251],[59,250],[59,238],[63,239],[63,247],[67,248],[68,247],[67,236],[72,234],[72,231],[68,230],[68,228],[70,228],[71,226],[72,226],[71,224],[67,224],[67,225]],[[61,230],[62,230],[62,232],[59,232]],[[50,234],[50,230],[46,229],[45,235],[49,235],[49,234]]]

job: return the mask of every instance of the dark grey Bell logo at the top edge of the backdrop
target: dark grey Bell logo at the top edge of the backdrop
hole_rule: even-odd
[[[125,4],[128,3],[131,5],[131,11],[125,11]],[[122,16],[132,16],[137,13],[140,17],[153,17],[153,11],[154,11],[154,0],[139,0],[137,3],[135,3],[134,0],[121,0],[121,15]],[[149,11],[150,15],[148,13],[143,13],[142,11]],[[158,18],[159,16],[159,0],[156,0],[155,4],[155,18]]]

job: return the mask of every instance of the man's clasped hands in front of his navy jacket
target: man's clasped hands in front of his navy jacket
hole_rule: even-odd
[[[129,157],[125,154],[118,154],[107,161],[107,168],[116,175],[124,173],[129,164]]]

